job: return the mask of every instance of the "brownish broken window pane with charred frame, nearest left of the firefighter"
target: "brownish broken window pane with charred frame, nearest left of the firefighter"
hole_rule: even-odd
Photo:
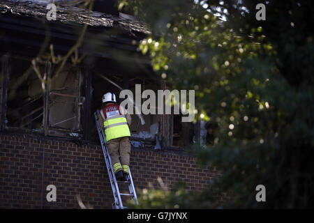
[[[50,79],[51,82],[46,84],[45,93],[47,100],[45,134],[83,137],[84,73],[80,72],[80,68],[70,67],[58,75],[51,75]]]

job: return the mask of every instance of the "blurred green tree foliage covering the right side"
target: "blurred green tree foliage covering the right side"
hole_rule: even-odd
[[[255,19],[257,3],[266,6],[265,21]],[[160,78],[174,89],[195,89],[198,114],[218,123],[214,146],[189,151],[223,176],[199,193],[182,185],[145,191],[140,208],[313,208],[314,3],[119,0],[118,6],[150,27],[139,48]],[[260,184],[267,202],[255,200]],[[222,192],[230,199],[219,202]]]

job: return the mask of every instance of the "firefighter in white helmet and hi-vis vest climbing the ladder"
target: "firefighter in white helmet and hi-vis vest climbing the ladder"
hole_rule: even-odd
[[[98,120],[105,129],[114,174],[117,180],[127,181],[130,164],[130,114],[117,105],[116,95],[108,92],[103,95],[103,108]]]

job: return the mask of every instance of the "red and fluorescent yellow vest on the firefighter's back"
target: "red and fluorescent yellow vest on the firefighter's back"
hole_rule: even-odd
[[[130,137],[130,129],[126,122],[126,116],[119,111],[119,105],[107,105],[100,114],[104,120],[106,141],[121,137]]]

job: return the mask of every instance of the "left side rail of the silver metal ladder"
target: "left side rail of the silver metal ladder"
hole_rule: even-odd
[[[100,127],[99,123],[98,123],[98,116],[99,116],[99,110],[97,110],[94,113],[95,116],[95,121],[96,121],[96,126],[97,126],[97,130],[98,130],[98,136],[100,139],[100,144],[101,144],[101,148],[103,149],[103,155],[105,157],[105,163],[106,163],[106,167],[107,167],[107,172],[110,178],[110,185],[112,187],[112,193],[114,196],[114,207],[115,208],[123,208],[122,205],[122,201],[121,201],[121,196],[120,196],[120,192],[119,192],[119,187],[117,184],[117,179],[115,178],[114,175],[114,171],[112,169],[112,161],[111,161],[111,157],[107,151],[107,146],[106,146],[106,141],[105,141],[105,134],[103,132],[103,128]],[[117,206],[118,205],[118,206]]]

